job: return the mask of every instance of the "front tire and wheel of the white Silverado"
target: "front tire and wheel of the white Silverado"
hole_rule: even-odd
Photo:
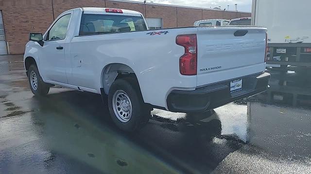
[[[36,96],[46,96],[49,93],[50,85],[43,82],[35,65],[31,65],[28,69],[28,81],[31,91]]]

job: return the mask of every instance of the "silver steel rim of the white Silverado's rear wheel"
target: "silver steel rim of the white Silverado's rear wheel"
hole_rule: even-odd
[[[130,97],[123,91],[117,90],[112,97],[112,107],[115,116],[123,123],[132,117],[132,103]]]

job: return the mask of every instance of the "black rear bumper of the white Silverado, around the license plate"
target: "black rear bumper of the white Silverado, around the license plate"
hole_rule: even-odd
[[[173,90],[167,97],[167,106],[172,112],[204,112],[261,93],[268,88],[270,73],[257,73],[242,79],[242,90],[230,93],[230,82],[226,80],[195,90]]]

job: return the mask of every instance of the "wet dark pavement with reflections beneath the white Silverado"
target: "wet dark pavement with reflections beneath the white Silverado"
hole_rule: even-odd
[[[22,56],[0,56],[0,174],[311,173],[310,72],[269,73],[265,93],[205,115],[155,109],[124,133],[99,95],[35,97]]]

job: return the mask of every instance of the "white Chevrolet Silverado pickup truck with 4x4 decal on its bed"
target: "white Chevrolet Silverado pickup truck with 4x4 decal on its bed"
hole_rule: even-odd
[[[47,31],[30,33],[24,65],[32,92],[53,85],[102,95],[124,131],[153,108],[205,112],[267,89],[266,29],[186,27],[148,30],[139,12],[76,8]]]

